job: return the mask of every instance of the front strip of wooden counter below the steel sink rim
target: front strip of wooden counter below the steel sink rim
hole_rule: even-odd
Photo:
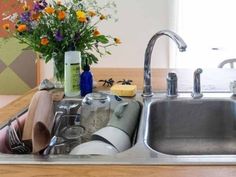
[[[234,166],[0,165],[1,177],[235,177]]]

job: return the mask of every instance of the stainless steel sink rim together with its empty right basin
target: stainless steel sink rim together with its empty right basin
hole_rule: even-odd
[[[115,155],[2,153],[0,164],[236,164],[236,97],[231,93],[204,93],[200,99],[190,93],[177,98],[138,93],[133,99],[143,106],[130,149]]]

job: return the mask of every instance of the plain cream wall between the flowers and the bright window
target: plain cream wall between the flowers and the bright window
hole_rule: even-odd
[[[172,0],[116,0],[118,22],[104,22],[100,31],[121,39],[112,47],[111,56],[105,56],[93,67],[142,68],[148,41],[159,30],[169,29],[169,7]],[[152,67],[167,67],[168,39],[160,38],[153,50]],[[42,78],[52,76],[52,65],[41,67]]]

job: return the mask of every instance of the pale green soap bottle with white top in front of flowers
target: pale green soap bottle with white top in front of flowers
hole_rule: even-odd
[[[79,73],[81,54],[78,51],[65,52],[64,89],[67,97],[79,96]]]

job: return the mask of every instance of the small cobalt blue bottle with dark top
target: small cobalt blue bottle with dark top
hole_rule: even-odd
[[[93,76],[90,72],[90,67],[86,63],[83,67],[83,72],[80,75],[80,95],[85,96],[93,91]]]

